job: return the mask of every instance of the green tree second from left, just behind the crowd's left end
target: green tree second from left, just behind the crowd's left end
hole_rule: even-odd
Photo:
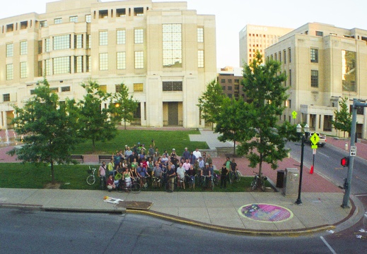
[[[116,135],[115,121],[110,118],[110,107],[102,107],[111,95],[101,90],[100,85],[89,80],[88,85],[81,84],[87,94],[78,105],[80,107],[81,137],[92,140],[93,150],[95,142],[111,140]]]

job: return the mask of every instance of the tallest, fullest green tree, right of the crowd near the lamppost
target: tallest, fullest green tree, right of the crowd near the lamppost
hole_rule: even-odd
[[[289,122],[278,123],[288,98],[288,87],[282,85],[286,75],[278,73],[281,73],[280,63],[269,60],[263,64],[262,56],[257,52],[250,65],[244,66],[243,73],[243,91],[250,102],[241,105],[231,118],[238,130],[238,154],[245,155],[252,168],[259,164],[259,174],[263,162],[276,169],[277,162],[288,155],[286,140],[298,138],[296,126]]]

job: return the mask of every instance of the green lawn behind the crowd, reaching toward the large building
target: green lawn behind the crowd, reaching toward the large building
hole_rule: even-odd
[[[199,149],[208,149],[205,142],[190,142],[189,134],[200,134],[197,130],[192,131],[146,131],[146,130],[122,130],[117,131],[117,135],[112,140],[105,142],[96,142],[95,151],[93,151],[91,140],[77,145],[72,152],[74,155],[111,155],[116,150],[123,150],[125,145],[133,147],[138,142],[145,144],[148,149],[151,140],[155,140],[156,147],[159,152],[167,150],[172,151],[173,148],[177,152],[184,151],[188,147],[190,151]]]

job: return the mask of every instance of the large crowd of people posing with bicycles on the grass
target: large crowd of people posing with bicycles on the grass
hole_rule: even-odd
[[[194,151],[189,151],[185,147],[182,156],[177,155],[175,148],[168,154],[165,150],[161,154],[158,148],[155,147],[154,140],[146,149],[144,144],[138,143],[134,147],[125,145],[124,150],[116,151],[110,162],[106,165],[105,162],[100,165],[98,176],[101,181],[106,181],[108,191],[115,190],[120,183],[124,183],[125,187],[132,183],[132,180],[139,179],[141,186],[146,183],[146,178],[155,177],[165,181],[175,181],[182,184],[185,189],[185,182],[192,181],[195,188],[195,176],[214,176],[213,160],[206,152],[200,152],[198,148]],[[228,174],[231,171],[237,171],[237,164],[234,159],[231,162],[227,157],[226,162],[220,170],[221,173],[221,188],[226,188]],[[158,181],[161,184],[163,181]]]

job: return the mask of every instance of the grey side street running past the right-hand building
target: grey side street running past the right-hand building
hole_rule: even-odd
[[[291,148],[291,157],[298,162],[301,161],[301,143],[288,143],[287,147]],[[347,168],[340,165],[342,157],[349,155],[349,152],[340,150],[332,145],[318,147],[315,155],[314,171],[325,176],[337,186],[344,185],[344,179],[347,176]],[[303,156],[303,165],[310,169],[313,164],[313,150],[310,145],[305,144],[305,152]],[[351,180],[351,193],[367,194],[367,162],[360,157],[354,158],[354,170]]]

